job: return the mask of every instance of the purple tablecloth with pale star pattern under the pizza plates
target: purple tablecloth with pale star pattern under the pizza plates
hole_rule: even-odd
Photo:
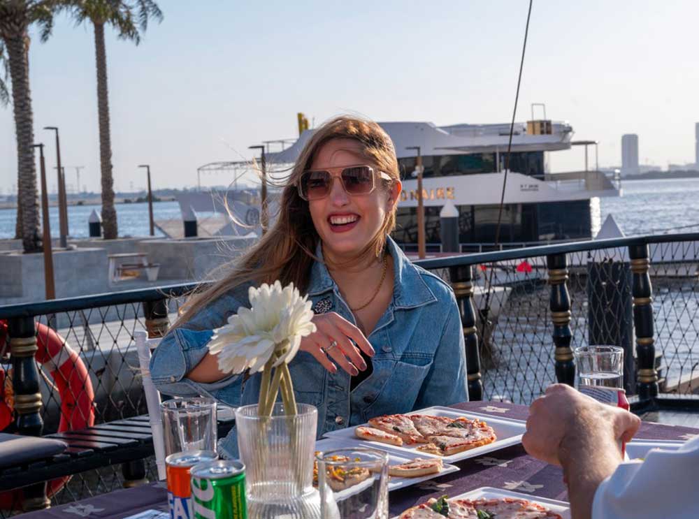
[[[502,402],[465,402],[455,404],[479,414],[526,420],[526,406]],[[658,423],[642,423],[637,439],[683,440],[699,434],[699,429]],[[456,462],[461,470],[391,492],[389,516],[425,502],[430,497],[459,495],[480,487],[508,488],[533,496],[567,501],[563,471],[535,460],[521,445],[506,447],[480,458]],[[75,517],[120,519],[148,509],[167,510],[164,481],[128,490],[117,490],[72,504],[23,514],[22,519],[69,519]]]

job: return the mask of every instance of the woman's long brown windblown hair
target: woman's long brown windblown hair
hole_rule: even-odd
[[[186,323],[206,305],[244,284],[271,284],[279,279],[282,286],[294,283],[301,293],[308,290],[311,267],[314,261],[319,261],[315,256],[315,250],[320,238],[310,216],[308,201],[298,195],[297,184],[301,174],[310,168],[319,148],[335,138],[359,141],[368,163],[387,173],[391,182],[400,180],[393,142],[378,124],[348,116],[336,117],[326,122],[314,131],[299,154],[294,168],[291,169],[282,190],[275,224],[243,256],[232,262],[229,273],[223,279],[208,288],[196,291],[189,298],[173,327]],[[384,184],[390,182],[384,181]],[[383,189],[386,189],[385,185]],[[387,235],[396,227],[397,205],[394,204],[387,212],[382,227],[357,254],[356,261],[368,254],[380,256]]]

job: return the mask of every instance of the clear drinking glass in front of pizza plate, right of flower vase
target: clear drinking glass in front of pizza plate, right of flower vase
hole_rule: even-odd
[[[318,488],[323,519],[387,519],[388,460],[374,448],[319,453]]]

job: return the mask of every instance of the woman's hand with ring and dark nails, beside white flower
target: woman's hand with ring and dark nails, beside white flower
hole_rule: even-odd
[[[359,350],[373,357],[374,349],[359,328],[335,312],[318,314],[312,321],[317,330],[301,339],[301,350],[308,351],[331,373],[338,372],[333,360],[350,375],[366,370]]]

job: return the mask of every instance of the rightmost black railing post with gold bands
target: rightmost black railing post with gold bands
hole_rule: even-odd
[[[638,372],[636,389],[641,400],[658,396],[658,372],[655,369],[655,333],[653,330],[653,289],[648,274],[648,245],[630,245],[633,295],[633,326],[636,335]]]

